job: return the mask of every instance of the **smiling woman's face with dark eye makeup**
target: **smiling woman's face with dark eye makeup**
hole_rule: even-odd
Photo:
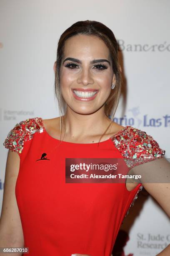
[[[61,93],[67,108],[80,114],[96,112],[109,97],[112,83],[112,61],[100,38],[76,35],[67,39],[60,67]]]

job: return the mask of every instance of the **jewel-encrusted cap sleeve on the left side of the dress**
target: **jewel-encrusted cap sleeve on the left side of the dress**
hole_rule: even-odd
[[[16,151],[19,156],[23,151],[24,142],[32,139],[35,132],[43,131],[42,118],[28,118],[17,123],[7,134],[3,146],[11,151]]]

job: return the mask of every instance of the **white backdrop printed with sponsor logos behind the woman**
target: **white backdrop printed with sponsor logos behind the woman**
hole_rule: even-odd
[[[59,115],[53,72],[57,42],[78,20],[104,23],[120,44],[125,85],[114,120],[146,131],[170,158],[169,10],[168,0],[0,0],[0,206],[3,142],[21,120]],[[129,234],[125,255],[156,255],[170,243],[169,218],[145,190],[121,229]]]

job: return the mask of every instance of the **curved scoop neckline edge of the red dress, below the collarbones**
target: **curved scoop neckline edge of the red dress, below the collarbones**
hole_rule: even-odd
[[[40,118],[40,120],[41,120],[42,128],[43,128],[43,130],[45,131],[46,135],[47,135],[49,138],[51,138],[51,139],[53,139],[53,140],[55,140],[55,141],[60,142],[60,140],[58,140],[57,138],[52,137],[49,133],[47,133],[47,130],[45,129],[45,126],[44,126],[44,124],[43,124],[42,118]],[[101,143],[107,143],[107,142],[110,141],[113,137],[115,137],[115,136],[119,135],[120,133],[122,133],[123,131],[125,131],[128,127],[131,127],[131,126],[130,126],[130,125],[126,125],[124,128],[122,128],[120,131],[118,131],[117,133],[115,133],[114,135],[112,135],[112,136],[111,136],[110,138],[108,138],[107,140],[105,140],[105,141],[100,141],[99,144],[101,144]],[[95,145],[95,144],[98,144],[98,142],[94,142],[94,143],[74,143],[74,142],[70,142],[70,141],[62,141],[61,143],[64,143],[64,144],[67,144],[67,145],[69,145],[69,144],[70,144],[70,145]]]

